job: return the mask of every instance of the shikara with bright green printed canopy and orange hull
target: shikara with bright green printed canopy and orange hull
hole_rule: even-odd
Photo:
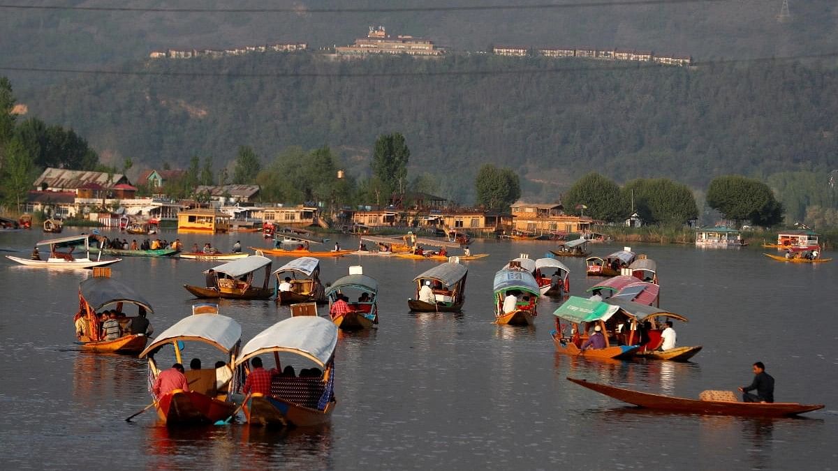
[[[571,296],[553,313],[556,316],[556,329],[551,334],[556,351],[566,355],[582,355],[585,358],[632,357],[640,346],[619,344],[617,331],[631,325],[634,319],[618,314],[619,310],[618,306]],[[561,323],[560,319],[567,323]],[[582,345],[589,338],[588,329],[594,326],[601,329],[605,337],[605,348],[582,350]]]

